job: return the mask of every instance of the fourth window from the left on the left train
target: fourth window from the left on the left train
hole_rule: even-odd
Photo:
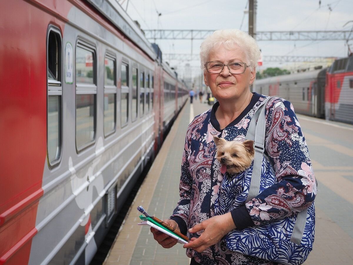
[[[121,95],[120,95],[120,120],[121,126],[125,126],[129,117],[129,66],[121,64]]]

